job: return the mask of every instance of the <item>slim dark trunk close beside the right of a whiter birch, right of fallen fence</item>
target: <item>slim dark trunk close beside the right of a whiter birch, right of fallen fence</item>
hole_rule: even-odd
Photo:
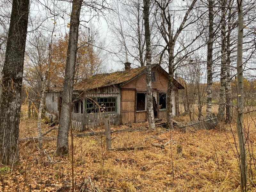
[[[231,33],[231,1],[229,1],[228,9],[228,35],[227,35],[227,66],[226,66],[226,123],[230,122],[230,33]]]

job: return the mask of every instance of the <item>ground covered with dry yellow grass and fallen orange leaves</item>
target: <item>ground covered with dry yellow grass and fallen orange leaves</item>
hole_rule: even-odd
[[[176,118],[182,122],[185,117]],[[187,117],[186,117],[187,118]],[[255,120],[255,119],[254,119]],[[132,129],[144,129],[146,123],[132,124]],[[256,153],[255,124],[250,130],[250,154]],[[49,130],[43,124],[43,131]],[[111,126],[111,130],[127,129],[126,125]],[[102,136],[73,138],[75,191],[239,191],[240,173],[237,161],[235,123],[220,123],[216,129],[194,132],[116,132],[111,134],[112,148],[146,147],[143,150],[106,151]],[[94,131],[104,131],[104,127]],[[37,135],[36,119],[20,120],[20,138]],[[74,133],[76,135],[76,132]],[[162,140],[156,140],[151,136]],[[56,137],[53,130],[47,137]],[[176,143],[165,149],[151,146],[168,140]],[[146,140],[146,141],[145,141]],[[71,137],[69,138],[71,141]],[[71,191],[72,146],[69,155],[54,156],[56,140],[43,141],[43,148],[51,157],[37,149],[36,141],[20,141],[20,162],[13,167],[1,166],[0,191]],[[177,155],[180,145],[182,156]],[[248,146],[247,146],[248,147]],[[255,157],[248,156],[249,190],[256,191]]]

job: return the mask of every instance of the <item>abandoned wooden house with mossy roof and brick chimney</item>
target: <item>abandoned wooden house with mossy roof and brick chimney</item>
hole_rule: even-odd
[[[142,122],[147,120],[146,67],[131,68],[125,63],[124,71],[94,75],[74,84],[72,127],[83,131],[104,123],[107,114],[111,124]],[[168,73],[155,65],[151,72],[153,106],[156,118],[166,117]],[[173,82],[173,115],[179,113],[178,90],[184,87]],[[52,90],[45,100],[46,116],[58,120],[61,110],[61,92]]]

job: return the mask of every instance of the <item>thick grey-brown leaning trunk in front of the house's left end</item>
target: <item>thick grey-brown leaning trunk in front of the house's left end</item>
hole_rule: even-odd
[[[72,110],[72,95],[75,76],[76,52],[78,42],[78,28],[82,0],[74,0],[70,17],[70,29],[68,39],[68,52],[65,68],[62,103],[60,112],[60,126],[57,136],[57,155],[68,154],[68,130],[70,127],[70,114]]]

